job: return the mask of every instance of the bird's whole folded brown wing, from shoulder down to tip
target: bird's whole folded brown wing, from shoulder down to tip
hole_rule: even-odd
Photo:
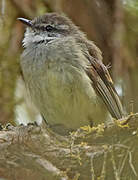
[[[92,41],[88,41],[86,38],[78,38],[77,42],[82,45],[83,54],[90,62],[86,73],[92,80],[93,88],[105,103],[112,117],[116,119],[122,118],[124,114],[122,104],[113,86],[109,72],[102,63],[102,52]]]

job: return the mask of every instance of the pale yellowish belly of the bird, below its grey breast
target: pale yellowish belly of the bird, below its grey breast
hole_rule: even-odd
[[[107,117],[90,79],[76,68],[47,70],[37,83],[29,81],[28,88],[41,115],[58,133],[95,125]]]

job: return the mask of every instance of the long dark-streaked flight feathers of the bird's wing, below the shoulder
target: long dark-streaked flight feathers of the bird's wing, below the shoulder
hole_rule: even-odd
[[[102,98],[112,117],[123,117],[123,108],[118,94],[113,86],[112,79],[102,61],[89,57],[91,66],[87,68],[87,74],[92,80],[92,85],[97,94]]]

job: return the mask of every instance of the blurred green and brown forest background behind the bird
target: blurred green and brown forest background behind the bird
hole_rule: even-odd
[[[25,96],[19,67],[25,27],[17,18],[53,11],[67,14],[100,47],[126,111],[137,112],[138,0],[0,0],[0,123],[19,116]]]

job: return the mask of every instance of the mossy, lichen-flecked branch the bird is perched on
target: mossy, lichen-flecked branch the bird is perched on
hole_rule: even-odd
[[[137,179],[137,117],[84,127],[69,137],[35,124],[8,126],[0,131],[0,178]]]

